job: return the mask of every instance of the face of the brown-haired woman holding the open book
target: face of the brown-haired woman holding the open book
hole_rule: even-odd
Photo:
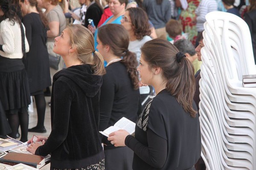
[[[154,72],[152,71],[152,69],[150,69],[148,63],[143,59],[143,53],[141,53],[140,64],[137,70],[140,73],[141,82],[143,84],[151,85]]]

